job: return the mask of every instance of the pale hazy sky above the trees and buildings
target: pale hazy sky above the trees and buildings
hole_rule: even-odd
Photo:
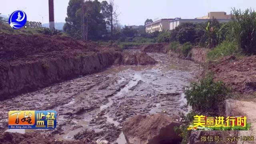
[[[65,22],[68,2],[54,0],[55,22]],[[230,14],[233,7],[256,9],[256,0],[115,0],[115,3],[122,25],[144,25],[147,18],[196,18],[210,11]],[[49,21],[48,0],[1,0],[0,13],[8,15],[17,8],[23,9],[30,21],[42,22],[39,15],[44,16],[44,23]]]

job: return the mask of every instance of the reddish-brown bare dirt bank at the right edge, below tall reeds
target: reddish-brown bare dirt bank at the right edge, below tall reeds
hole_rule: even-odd
[[[235,92],[252,94],[256,91],[256,56],[241,60],[229,56],[216,64],[210,64],[209,70],[214,72],[216,80],[222,80]]]

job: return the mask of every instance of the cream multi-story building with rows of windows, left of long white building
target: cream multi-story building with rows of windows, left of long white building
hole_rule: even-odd
[[[146,24],[146,33],[152,33],[155,31],[162,32],[163,30],[169,30],[169,21],[174,20],[173,18],[166,18],[161,20],[156,20],[150,24]]]

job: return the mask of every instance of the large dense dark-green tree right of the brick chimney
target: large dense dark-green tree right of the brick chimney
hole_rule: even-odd
[[[70,0],[67,15],[63,29],[74,38],[84,36],[88,40],[99,40],[106,33],[106,22],[98,0]]]

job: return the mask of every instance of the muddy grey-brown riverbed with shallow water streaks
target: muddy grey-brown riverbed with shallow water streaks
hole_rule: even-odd
[[[158,64],[112,66],[107,70],[54,84],[1,101],[0,131],[8,128],[9,110],[56,110],[55,130],[7,130],[93,143],[105,138],[126,144],[122,123],[136,114],[164,112],[179,120],[188,112],[183,88],[200,73],[199,65],[168,54],[148,53]]]

